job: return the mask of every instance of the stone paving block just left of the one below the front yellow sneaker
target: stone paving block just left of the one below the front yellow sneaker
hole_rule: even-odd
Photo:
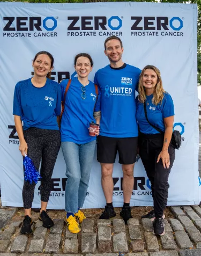
[[[62,236],[60,234],[49,234],[47,244],[45,247],[45,252],[58,253],[61,240],[62,240]]]

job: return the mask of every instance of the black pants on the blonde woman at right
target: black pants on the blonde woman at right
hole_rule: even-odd
[[[170,142],[168,153],[170,158],[169,169],[165,169],[160,159],[157,158],[162,150],[164,135],[153,134],[146,135],[140,133],[139,136],[139,155],[142,159],[148,179],[151,182],[154,213],[155,217],[162,217],[168,199],[168,177],[175,159],[175,149]]]

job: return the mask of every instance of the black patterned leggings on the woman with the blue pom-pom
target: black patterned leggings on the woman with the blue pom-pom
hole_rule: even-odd
[[[32,159],[38,170],[41,162],[41,201],[48,202],[51,191],[51,175],[53,174],[61,145],[60,131],[29,128],[28,130],[24,130],[24,138],[28,145],[27,156]],[[32,207],[34,188],[34,182],[29,184],[28,181],[24,181],[23,202],[25,209]]]

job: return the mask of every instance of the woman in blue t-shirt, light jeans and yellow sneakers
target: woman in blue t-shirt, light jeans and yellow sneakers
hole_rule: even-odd
[[[96,136],[90,136],[88,128],[92,121],[100,123],[100,93],[98,87],[88,80],[93,67],[91,56],[80,53],[74,64],[78,76],[61,83],[64,102],[61,138],[68,178],[65,186],[66,222],[70,232],[78,233],[76,218],[79,223],[86,218],[79,209],[86,197],[96,144]],[[99,135],[99,127],[95,135]]]

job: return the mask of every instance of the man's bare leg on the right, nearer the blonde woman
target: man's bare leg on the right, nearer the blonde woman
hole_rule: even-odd
[[[123,198],[124,203],[130,203],[133,186],[134,186],[134,177],[133,169],[135,164],[122,164],[123,170]]]

